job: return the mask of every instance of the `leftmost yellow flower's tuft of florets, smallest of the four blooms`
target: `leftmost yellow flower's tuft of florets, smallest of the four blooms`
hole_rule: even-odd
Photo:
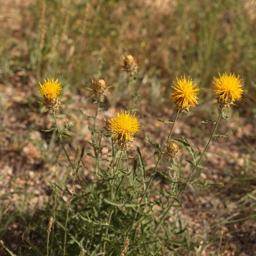
[[[54,100],[58,97],[58,95],[61,93],[61,83],[58,83],[58,79],[54,81],[54,79],[49,80],[47,78],[47,81],[44,80],[44,83],[40,84],[40,90],[39,93],[47,98],[48,100]]]

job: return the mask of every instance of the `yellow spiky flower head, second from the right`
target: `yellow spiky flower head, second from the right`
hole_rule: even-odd
[[[174,92],[171,94],[172,102],[174,102],[178,108],[188,109],[195,107],[198,104],[198,92],[197,84],[192,79],[186,79],[186,77],[176,77],[177,82],[175,86],[172,86]]]

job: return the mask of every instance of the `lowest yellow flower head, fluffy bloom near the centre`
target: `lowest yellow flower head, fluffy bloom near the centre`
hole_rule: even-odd
[[[126,111],[121,114],[117,111],[116,116],[108,120],[108,126],[113,137],[121,143],[132,141],[134,134],[140,131],[140,122],[135,113],[132,116]]]

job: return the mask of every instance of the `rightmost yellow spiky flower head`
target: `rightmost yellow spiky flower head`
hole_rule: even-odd
[[[214,77],[213,84],[213,91],[222,105],[233,104],[242,99],[244,83],[239,75],[230,73],[227,76],[226,72],[222,75],[219,73],[219,78]]]

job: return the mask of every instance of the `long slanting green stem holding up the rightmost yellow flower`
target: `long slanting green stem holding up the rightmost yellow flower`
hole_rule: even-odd
[[[193,173],[194,173],[195,170],[197,169],[197,167],[198,167],[198,165],[199,165],[201,159],[203,158],[205,152],[206,152],[207,149],[209,148],[210,142],[212,141],[212,138],[214,137],[215,131],[216,131],[216,129],[217,129],[217,127],[218,127],[218,124],[219,124],[219,122],[220,122],[221,115],[222,115],[222,109],[223,109],[223,107],[221,108],[220,114],[219,114],[219,116],[218,116],[218,120],[217,120],[217,122],[216,122],[216,124],[215,124],[215,127],[213,128],[211,137],[209,138],[209,140],[208,140],[208,142],[207,142],[207,144],[206,144],[206,146],[205,146],[205,148],[204,148],[204,151],[201,153],[201,156],[199,157],[199,159],[198,159],[197,163],[195,164],[194,168],[192,169],[192,172],[189,174],[189,177],[188,177],[188,179],[186,180],[186,183],[184,184],[183,188],[180,189],[180,191],[178,192],[176,198],[178,198],[179,195],[181,194],[181,192],[183,192],[183,191],[186,189],[186,187],[187,187],[187,185],[188,185],[188,183],[189,183],[189,181],[190,181],[190,179],[191,179]],[[162,223],[163,219],[165,218],[166,214],[169,212],[169,209],[171,209],[171,207],[173,206],[174,202],[175,202],[175,199],[172,201],[172,204],[170,204],[169,207],[167,207],[167,209],[166,209],[165,212],[163,213],[163,216],[160,218],[160,221],[159,221],[158,224],[157,224],[157,228],[158,228],[158,227],[160,226],[160,224]]]

